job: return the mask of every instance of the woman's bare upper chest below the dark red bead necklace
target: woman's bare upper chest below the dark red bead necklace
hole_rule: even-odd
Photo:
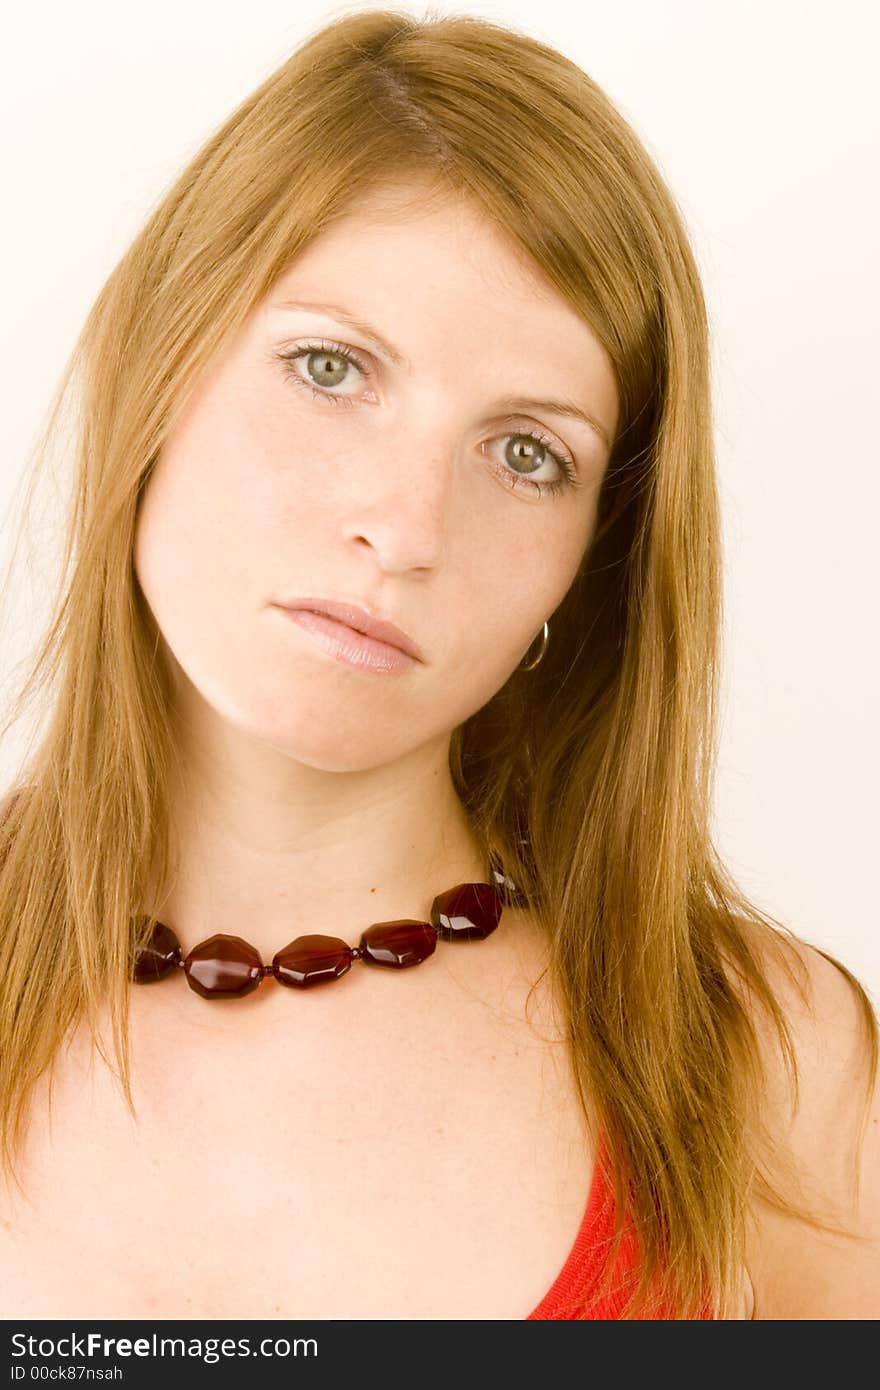
[[[217,1029],[139,1001],[136,1119],[82,1040],[63,1055],[31,1204],[0,1200],[0,1315],[525,1318],[592,1170],[562,1042],[516,990],[374,984],[241,1033],[235,1002]]]

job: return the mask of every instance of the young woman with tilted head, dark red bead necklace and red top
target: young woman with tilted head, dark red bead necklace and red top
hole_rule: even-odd
[[[712,844],[706,314],[608,97],[338,19],[74,388],[0,1315],[877,1316],[876,1019]]]

